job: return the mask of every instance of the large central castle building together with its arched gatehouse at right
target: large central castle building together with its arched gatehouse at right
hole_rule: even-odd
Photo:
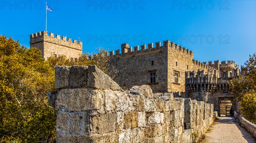
[[[175,97],[192,98],[214,104],[214,111],[226,115],[232,108],[238,109],[228,81],[239,76],[239,66],[234,61],[198,62],[193,52],[169,40],[129,47],[121,45],[110,52],[111,64],[119,70],[125,69],[115,81],[123,89],[148,84],[153,93],[172,92]],[[225,99],[225,101],[223,101]],[[228,102],[226,102],[228,101]],[[223,102],[223,103],[222,103]],[[227,106],[229,109],[226,109]],[[222,107],[222,108],[221,108]],[[228,111],[227,111],[228,110]]]

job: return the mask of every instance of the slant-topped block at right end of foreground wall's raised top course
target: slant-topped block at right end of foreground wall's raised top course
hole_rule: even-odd
[[[96,65],[88,66],[87,86],[94,89],[110,89],[111,78]]]

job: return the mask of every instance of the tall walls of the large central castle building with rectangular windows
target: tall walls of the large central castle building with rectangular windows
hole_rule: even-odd
[[[185,91],[185,72],[190,70],[214,70],[204,63],[193,59],[193,52],[173,42],[163,41],[129,48],[123,44],[120,50],[111,51],[113,55],[112,66],[124,73],[115,81],[123,88],[131,88],[135,85],[148,84],[154,93]],[[154,62],[152,64],[152,62]],[[150,82],[150,73],[156,73],[156,83]],[[178,73],[178,82],[175,83],[174,74]]]

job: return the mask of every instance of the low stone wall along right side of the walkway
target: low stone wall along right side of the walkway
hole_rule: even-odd
[[[251,133],[256,137],[256,125],[250,121],[247,121],[244,117],[241,117],[234,112],[234,117]]]

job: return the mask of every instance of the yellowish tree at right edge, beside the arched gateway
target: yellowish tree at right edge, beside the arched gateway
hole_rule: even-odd
[[[230,87],[236,95],[244,117],[256,123],[256,55],[250,56],[249,60],[241,68],[242,75],[230,81]]]

